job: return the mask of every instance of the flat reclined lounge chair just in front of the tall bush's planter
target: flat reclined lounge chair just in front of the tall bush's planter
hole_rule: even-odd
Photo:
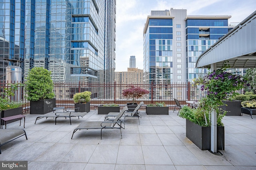
[[[55,118],[55,125],[56,125],[56,120],[58,117],[65,117],[65,119],[68,117],[70,120],[70,125],[71,125],[71,117],[78,117],[78,119],[79,119],[79,117],[84,117],[87,114],[87,112],[75,112],[75,110],[78,110],[78,109],[79,109],[79,107],[74,108],[74,109],[67,108],[67,109],[65,109],[65,111],[62,111],[62,112],[57,111],[55,113],[53,113],[53,112],[46,113],[44,115],[40,115],[40,116],[36,117],[36,121],[38,119],[42,119],[43,117],[46,117],[46,119],[48,117],[53,117],[53,118]],[[35,121],[35,124],[36,124],[36,121]]]

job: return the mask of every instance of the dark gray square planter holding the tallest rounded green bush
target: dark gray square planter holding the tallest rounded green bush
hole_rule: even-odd
[[[55,98],[30,101],[30,114],[46,114],[53,111],[53,107],[56,107]]]

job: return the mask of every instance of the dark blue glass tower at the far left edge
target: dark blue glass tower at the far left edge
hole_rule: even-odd
[[[22,66],[16,61],[24,61],[24,25],[25,1],[0,0],[0,80],[6,66]]]

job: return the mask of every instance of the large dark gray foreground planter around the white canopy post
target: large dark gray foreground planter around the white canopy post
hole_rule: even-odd
[[[202,127],[186,119],[186,137],[201,150],[211,149],[211,127]],[[217,127],[217,149],[225,150],[224,127]]]

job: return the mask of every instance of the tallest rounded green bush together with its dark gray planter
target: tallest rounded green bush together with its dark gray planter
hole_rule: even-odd
[[[28,73],[25,96],[30,100],[30,114],[45,114],[53,111],[56,100],[51,72],[42,67],[34,67]]]

